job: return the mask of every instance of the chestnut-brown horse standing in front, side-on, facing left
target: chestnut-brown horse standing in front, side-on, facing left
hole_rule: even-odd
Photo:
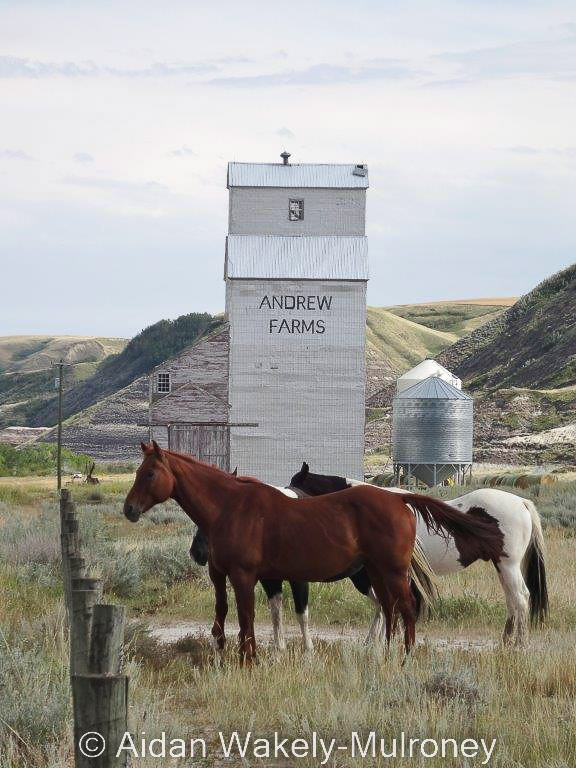
[[[415,606],[409,569],[417,511],[426,525],[481,540],[485,559],[501,554],[501,537],[426,496],[399,496],[357,486],[327,496],[291,499],[250,478],[235,478],[190,456],[142,443],[144,460],[124,502],[137,522],[155,504],[173,498],[206,532],[210,578],[216,593],[212,635],[225,642],[226,577],[234,588],[240,624],[240,658],[256,653],[254,587],[259,579],[331,581],[365,566],[385,615],[397,610],[408,652],[415,642]],[[408,506],[408,503],[410,506]]]

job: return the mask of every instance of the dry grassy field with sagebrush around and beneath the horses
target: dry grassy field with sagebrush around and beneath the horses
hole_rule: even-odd
[[[0,765],[70,768],[67,642],[58,571],[58,509],[47,480],[0,482]],[[73,490],[82,535],[107,598],[127,605],[130,725],[148,738],[203,737],[251,730],[283,737],[316,730],[349,741],[352,731],[391,738],[496,739],[489,765],[568,768],[576,754],[576,483],[539,489],[548,545],[551,615],[532,633],[527,650],[500,648],[504,622],[493,568],[473,566],[441,580],[435,617],[421,623],[419,645],[402,666],[398,645],[389,654],[359,642],[316,644],[311,655],[292,641],[285,653],[261,646],[259,662],[240,669],[234,642],[215,660],[202,637],[160,644],[150,626],[195,620],[208,627],[212,594],[205,569],[193,565],[193,526],[174,505],[137,525],[121,505],[130,478],[106,479],[96,490]],[[450,489],[451,494],[459,493]],[[97,494],[97,495],[94,495]],[[232,614],[234,603],[231,601]],[[289,623],[291,604],[285,600]],[[371,609],[349,582],[313,585],[311,621],[351,638],[364,632]],[[257,621],[268,624],[262,590]],[[34,694],[34,695],[22,695]],[[318,765],[306,758],[302,766]],[[185,767],[154,758],[135,765]],[[235,765],[201,761],[201,765]],[[247,764],[253,764],[249,761]],[[260,764],[274,764],[261,762]],[[360,760],[341,752],[329,765],[451,766],[459,758]]]

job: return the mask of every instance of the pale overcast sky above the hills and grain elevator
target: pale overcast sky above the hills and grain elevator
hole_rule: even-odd
[[[224,307],[230,160],[367,163],[368,301],[573,263],[573,0],[0,0],[0,335]]]

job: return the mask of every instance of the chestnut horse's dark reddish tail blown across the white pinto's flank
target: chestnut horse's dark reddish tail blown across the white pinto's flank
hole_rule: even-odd
[[[485,509],[473,507],[464,513],[432,496],[417,493],[404,494],[402,501],[420,515],[429,533],[454,538],[464,567],[476,560],[498,563],[504,555],[504,534],[498,521]]]

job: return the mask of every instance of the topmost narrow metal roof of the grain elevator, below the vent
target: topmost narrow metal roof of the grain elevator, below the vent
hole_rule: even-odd
[[[368,166],[301,163],[228,163],[227,187],[366,189]]]

